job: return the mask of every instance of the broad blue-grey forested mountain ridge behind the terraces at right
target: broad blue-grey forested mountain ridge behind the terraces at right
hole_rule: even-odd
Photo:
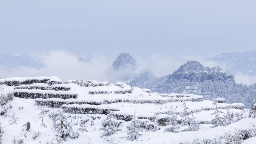
[[[130,55],[129,59],[131,59]],[[132,63],[136,63],[133,60],[132,58]],[[113,65],[121,65],[123,69],[126,66],[122,61],[115,61]],[[250,107],[250,101],[256,93],[256,84],[250,86],[236,84],[234,75],[218,66],[204,67],[198,61],[186,62],[172,74],[159,78],[154,76],[152,70],[145,69],[138,73],[132,73],[130,78],[126,79],[126,83],[130,86],[148,88],[152,92],[158,93],[198,94],[209,100],[225,98],[228,103],[242,102],[247,108]]]

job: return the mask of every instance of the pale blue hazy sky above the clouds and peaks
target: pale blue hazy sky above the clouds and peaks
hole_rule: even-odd
[[[256,48],[255,0],[1,0],[0,52],[206,56]]]

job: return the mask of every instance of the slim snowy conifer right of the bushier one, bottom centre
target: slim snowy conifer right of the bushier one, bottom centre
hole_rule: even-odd
[[[141,136],[139,132],[139,123],[138,123],[138,118],[136,116],[136,112],[133,112],[133,118],[130,122],[130,126],[127,126],[128,129],[128,140],[136,140],[139,136]]]

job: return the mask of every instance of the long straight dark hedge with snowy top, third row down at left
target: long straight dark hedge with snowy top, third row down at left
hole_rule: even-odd
[[[14,90],[14,96],[19,98],[77,98],[78,94],[70,91],[54,91],[54,90],[26,90],[16,89]]]

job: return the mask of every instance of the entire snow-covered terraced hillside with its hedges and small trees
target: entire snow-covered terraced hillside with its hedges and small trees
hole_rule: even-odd
[[[255,142],[255,112],[225,99],[58,77],[0,79],[0,94],[2,144]]]

